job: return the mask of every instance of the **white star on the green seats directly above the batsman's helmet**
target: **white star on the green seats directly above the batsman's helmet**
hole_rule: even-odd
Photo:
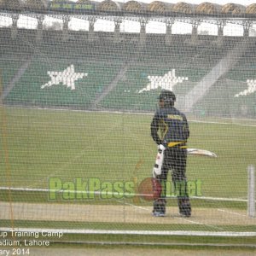
[[[174,85],[183,83],[184,80],[188,80],[188,78],[177,77],[175,75],[175,69],[172,69],[172,71],[169,71],[163,76],[148,76],[148,79],[150,80],[150,83],[148,83],[147,86],[142,90],[139,90],[138,93],[148,90],[155,90],[159,87],[166,90],[172,90]]]

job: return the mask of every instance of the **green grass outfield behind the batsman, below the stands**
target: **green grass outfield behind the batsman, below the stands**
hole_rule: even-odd
[[[7,138],[7,148],[0,144],[0,168],[10,170],[12,187],[48,189],[49,177],[101,183],[136,178],[140,183],[151,175],[156,154],[152,115],[27,108],[5,108],[4,113],[7,129],[1,125],[1,141]],[[247,166],[256,164],[256,126],[221,122],[189,122],[189,148],[211,150],[218,158],[189,156],[187,176],[200,180],[202,196],[246,199]],[[0,175],[0,186],[6,187],[9,174]]]

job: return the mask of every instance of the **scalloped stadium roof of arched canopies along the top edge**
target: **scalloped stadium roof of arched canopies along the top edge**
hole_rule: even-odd
[[[256,2],[256,0],[255,0]],[[69,0],[0,0],[0,9],[30,9],[46,10],[50,9],[50,3],[60,4],[91,4],[94,11],[106,12],[127,12],[141,13],[149,12],[150,14],[180,13],[183,15],[256,15],[256,3],[244,6],[236,3],[226,3],[224,5],[202,2],[200,4],[191,4],[185,2],[166,3],[164,1],[152,1],[151,3],[141,3],[139,1],[128,1],[120,3],[113,0],[103,0],[95,2],[90,0],[78,0],[71,2]],[[61,6],[61,5],[60,5]],[[57,8],[55,10],[58,10]],[[68,10],[68,9],[66,9]],[[75,9],[77,10],[77,9]],[[90,9],[91,10],[91,9]]]

